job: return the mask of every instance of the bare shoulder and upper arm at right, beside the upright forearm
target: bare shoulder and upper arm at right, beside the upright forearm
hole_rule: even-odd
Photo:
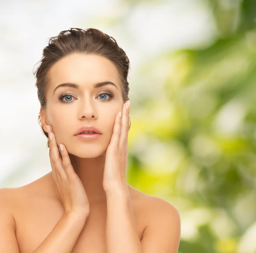
[[[136,189],[133,191],[146,224],[141,239],[143,252],[177,253],[181,224],[177,208],[160,197]]]

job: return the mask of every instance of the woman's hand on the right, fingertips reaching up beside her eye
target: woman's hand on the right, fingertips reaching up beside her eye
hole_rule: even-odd
[[[129,101],[129,100],[128,100]],[[128,157],[129,107],[126,101],[122,107],[122,117],[116,114],[111,142],[108,145],[103,173],[103,188],[106,193],[127,190],[126,168]],[[130,105],[130,101],[129,101]]]

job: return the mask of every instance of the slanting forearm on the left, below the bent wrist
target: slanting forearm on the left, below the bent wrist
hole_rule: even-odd
[[[65,214],[33,253],[70,253],[87,217]]]

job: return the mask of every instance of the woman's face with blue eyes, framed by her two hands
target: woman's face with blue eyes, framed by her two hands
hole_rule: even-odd
[[[93,87],[106,81],[116,86]],[[77,84],[80,88],[61,86],[55,90],[64,83]],[[58,145],[63,143],[70,154],[82,158],[104,154],[111,141],[116,114],[122,111],[121,87],[116,66],[99,55],[71,54],[52,65],[47,109],[43,114],[52,126]],[[67,95],[62,96],[64,94]],[[78,138],[75,134],[83,125],[92,125],[102,134],[96,139]]]

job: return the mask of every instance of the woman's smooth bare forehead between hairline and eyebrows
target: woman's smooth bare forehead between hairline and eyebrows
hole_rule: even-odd
[[[116,66],[96,54],[70,54],[52,65],[48,77],[52,89],[64,82],[93,85],[96,82],[111,81],[120,86]]]

